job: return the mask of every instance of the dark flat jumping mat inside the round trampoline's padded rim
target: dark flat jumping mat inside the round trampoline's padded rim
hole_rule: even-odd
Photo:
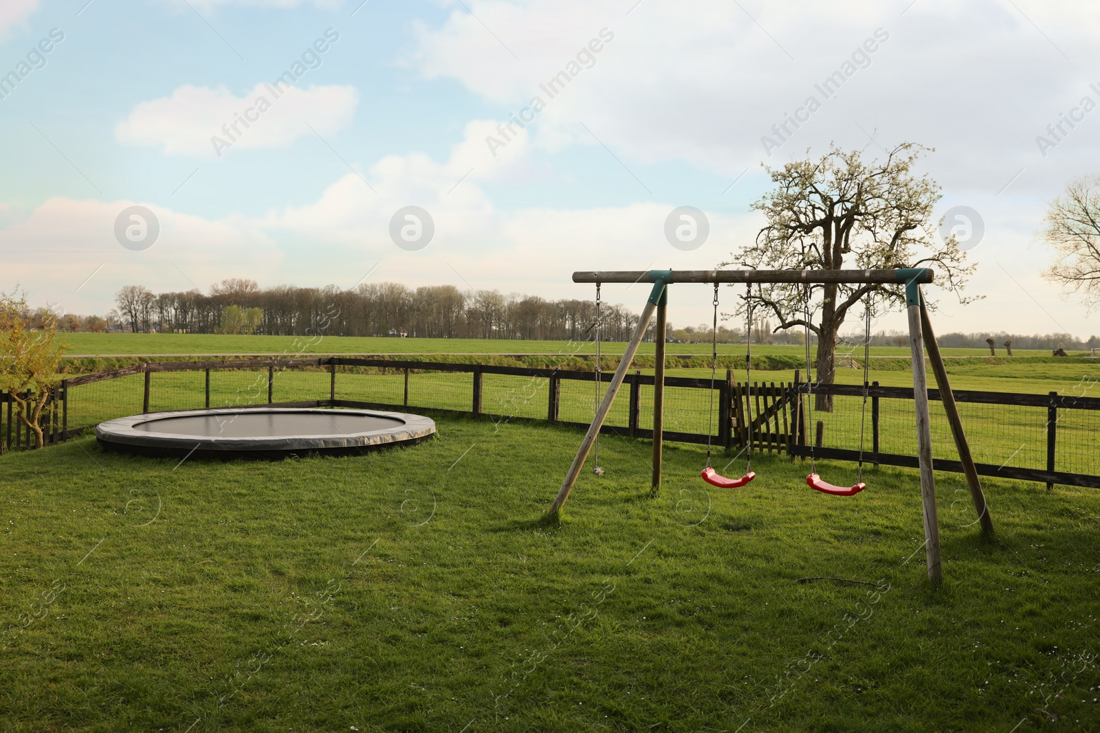
[[[148,420],[133,426],[146,433],[172,433],[200,437],[293,437],[348,435],[402,427],[405,421],[331,412],[235,412],[227,414],[180,415]]]

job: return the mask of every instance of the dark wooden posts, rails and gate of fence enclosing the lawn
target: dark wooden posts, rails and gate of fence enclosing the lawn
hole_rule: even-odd
[[[267,404],[278,404],[284,407],[348,407],[348,408],[374,408],[402,410],[409,407],[409,375],[425,373],[460,373],[471,375],[470,381],[470,410],[447,410],[431,408],[438,412],[454,412],[464,414],[484,414],[494,419],[527,421],[543,420],[542,418],[521,418],[518,415],[487,413],[484,411],[484,376],[502,375],[512,377],[527,377],[530,379],[546,380],[547,384],[547,411],[544,420],[557,422],[563,425],[587,427],[586,422],[570,422],[561,420],[561,384],[563,380],[592,382],[597,378],[593,371],[571,371],[556,368],[531,368],[531,367],[507,367],[486,364],[450,364],[437,362],[416,362],[407,359],[372,359],[352,357],[323,357],[323,358],[270,358],[270,359],[233,359],[233,360],[202,360],[202,362],[151,362],[121,369],[111,369],[98,374],[80,375],[69,377],[62,381],[51,398],[50,409],[45,411],[46,419],[46,443],[54,444],[86,430],[88,425],[68,426],[68,402],[69,388],[82,385],[90,385],[98,381],[118,379],[120,377],[144,375],[143,410],[150,410],[150,396],[154,388],[152,374],[157,371],[205,371],[205,404],[210,407],[210,373],[213,370],[245,369],[267,370],[267,400],[263,403],[240,404],[239,408],[266,407]],[[388,402],[363,402],[355,400],[340,399],[338,390],[337,375],[340,367],[355,369],[370,368],[395,370],[404,375],[404,393],[400,404]],[[302,400],[295,402],[274,401],[274,380],[276,369],[315,369],[329,373],[328,399]],[[610,381],[609,373],[598,375],[601,381]],[[729,370],[715,384],[715,404],[717,406],[717,420],[713,426],[714,434],[690,433],[664,431],[664,437],[670,441],[683,443],[703,444],[710,438],[715,445],[724,448],[739,448],[752,443],[754,449],[787,453],[790,456],[809,456],[811,453],[809,444],[810,429],[806,425],[805,417],[805,395],[806,382],[800,380],[800,375],[795,371],[793,384],[785,382],[754,382],[752,385],[735,382]],[[628,435],[634,437],[652,437],[652,430],[641,426],[641,388],[652,387],[654,379],[652,375],[644,375],[640,371],[628,374],[623,387],[628,401],[627,424],[604,425],[603,432]],[[688,388],[698,390],[710,390],[711,380],[705,378],[667,377],[666,387]],[[541,385],[540,385],[541,387]],[[864,388],[858,385],[815,385],[815,393],[826,393],[842,397],[862,397]],[[1009,466],[993,466],[990,464],[977,464],[978,473],[986,476],[1000,476],[1028,481],[1041,481],[1053,486],[1054,484],[1065,484],[1070,486],[1082,486],[1100,488],[1100,476],[1089,474],[1076,474],[1059,471],[1056,466],[1056,454],[1058,445],[1058,414],[1063,410],[1100,410],[1100,398],[1090,397],[1064,397],[1056,392],[1048,395],[1023,395],[1010,392],[986,392],[955,390],[956,402],[969,402],[981,404],[1000,404],[1013,407],[1033,407],[1046,409],[1046,468],[1016,468]],[[908,387],[882,387],[873,382],[868,389],[869,406],[871,408],[870,449],[865,451],[866,460],[878,464],[894,466],[917,465],[915,456],[882,453],[880,451],[881,430],[881,401],[883,399],[913,401],[913,390]],[[622,398],[620,398],[622,399]],[[939,391],[928,390],[928,399],[939,401]],[[702,403],[710,404],[710,396],[701,398]],[[427,408],[424,408],[427,409]],[[705,409],[703,410],[705,414]],[[751,414],[751,424],[747,415]],[[120,415],[121,417],[121,415]],[[33,443],[33,435],[25,425],[22,425],[13,410],[13,400],[9,395],[0,392],[0,448],[21,449]],[[859,457],[858,451],[848,448],[829,447],[822,444],[813,448],[813,454],[821,458],[839,458],[844,460],[856,460]],[[937,458],[935,459],[937,470],[961,471],[961,464],[957,460]]]

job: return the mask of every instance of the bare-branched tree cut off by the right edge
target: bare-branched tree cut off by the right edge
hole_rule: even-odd
[[[1078,178],[1046,211],[1043,241],[1058,258],[1043,274],[1100,306],[1100,177]]]

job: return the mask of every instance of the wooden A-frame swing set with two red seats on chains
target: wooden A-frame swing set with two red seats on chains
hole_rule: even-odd
[[[664,333],[668,324],[668,303],[669,303],[669,286],[674,282],[711,282],[714,284],[714,330],[712,332],[712,337],[716,340],[717,334],[717,313],[718,313],[718,286],[723,282],[744,282],[747,284],[749,288],[754,284],[774,284],[774,282],[787,282],[794,285],[802,285],[805,288],[805,310],[806,310],[806,322],[810,321],[810,286],[811,285],[826,285],[826,284],[850,284],[850,285],[866,285],[866,284],[902,284],[905,286],[905,310],[909,316],[909,343],[910,352],[912,354],[913,360],[913,392],[914,392],[914,404],[916,413],[916,437],[917,437],[917,460],[921,470],[921,499],[924,507],[924,548],[925,556],[927,558],[928,567],[928,579],[932,582],[942,582],[943,580],[943,567],[941,565],[939,557],[939,523],[936,515],[936,482],[935,475],[933,474],[933,459],[932,459],[932,427],[928,413],[928,385],[927,377],[924,369],[924,356],[925,351],[927,351],[928,362],[932,364],[932,370],[936,379],[936,386],[939,389],[941,399],[943,400],[944,411],[947,414],[947,422],[952,429],[952,436],[955,440],[955,447],[958,451],[959,460],[963,464],[963,470],[966,475],[967,485],[970,488],[970,497],[974,501],[975,511],[978,514],[978,521],[981,525],[981,531],[987,534],[993,532],[993,522],[989,515],[989,509],[986,506],[986,497],[981,490],[981,482],[978,479],[978,471],[974,465],[974,458],[970,455],[970,447],[967,444],[966,433],[963,430],[963,421],[959,419],[958,409],[955,404],[955,398],[952,395],[950,384],[947,380],[947,370],[944,367],[943,358],[939,354],[939,347],[936,345],[935,334],[932,331],[932,321],[928,318],[928,310],[924,303],[924,298],[921,295],[921,285],[932,282],[935,277],[934,273],[928,268],[904,268],[904,269],[867,269],[867,270],[639,270],[639,271],[580,271],[573,273],[574,282],[594,282],[596,284],[596,289],[598,292],[600,286],[604,282],[651,282],[652,290],[649,293],[649,298],[646,301],[645,308],[642,308],[641,316],[638,319],[638,327],[627,344],[626,352],[623,354],[623,358],[618,364],[618,368],[615,370],[615,375],[612,377],[610,384],[607,386],[607,391],[604,393],[603,400],[596,408],[595,417],[592,424],[588,426],[587,432],[584,435],[584,440],[581,441],[581,447],[576,452],[576,456],[573,458],[573,463],[569,467],[569,471],[565,474],[565,480],[561,485],[561,489],[558,491],[558,496],[554,498],[553,503],[550,507],[549,517],[551,520],[557,520],[560,515],[561,508],[564,506],[565,501],[569,499],[569,493],[576,482],[578,476],[580,476],[581,469],[584,466],[584,462],[588,457],[590,451],[594,444],[597,443],[600,430],[603,427],[604,421],[607,419],[607,414],[610,411],[612,403],[615,401],[615,397],[618,393],[619,387],[623,386],[623,381],[626,378],[627,369],[630,368],[630,364],[634,360],[635,355],[638,352],[638,346],[641,344],[641,340],[645,337],[646,332],[649,329],[649,323],[653,320],[653,314],[657,314],[657,327],[654,338],[657,346],[656,355],[656,369],[653,373],[653,457],[652,457],[652,487],[659,489],[661,486],[661,448],[662,448],[662,414],[663,414],[663,403],[664,403]],[[746,295],[746,309],[748,311],[747,315],[751,319],[751,299],[750,293]],[[870,344],[870,320],[869,320],[870,307],[867,308],[867,330],[868,333],[865,334],[865,357],[864,357],[864,395],[865,395],[865,408],[866,408],[866,395],[867,395],[867,379],[868,379],[868,363],[869,363],[869,344]],[[751,320],[749,320],[749,326],[751,329]],[[598,318],[596,323],[597,334],[598,334]],[[746,373],[751,368],[751,346],[747,347],[746,354]],[[806,332],[806,358],[810,359],[810,333],[809,329]],[[714,375],[714,369],[717,364],[717,342],[714,341],[712,344],[712,377]],[[597,365],[598,367],[598,365]],[[598,375],[597,375],[598,377]],[[807,384],[806,391],[812,401],[812,379],[809,378],[807,371]],[[598,395],[600,381],[596,381],[596,390]],[[713,400],[712,389],[712,400]],[[812,409],[812,407],[811,407]],[[712,406],[713,415],[713,406]],[[708,431],[713,432],[713,430]],[[860,437],[862,440],[862,437]],[[597,448],[598,449],[598,448]],[[702,471],[703,479],[713,486],[721,488],[738,488],[747,485],[755,478],[756,474],[751,470],[751,435],[749,436],[749,458],[748,466],[746,467],[746,474],[740,478],[725,478],[719,476],[711,467],[711,445],[707,444],[707,459],[706,467]],[[812,473],[806,477],[806,484],[818,491],[833,496],[854,496],[862,491],[866,485],[862,482],[862,460],[860,459],[860,470],[859,480],[856,485],[851,487],[846,486],[834,486],[824,481],[816,473],[816,464],[814,463],[813,449],[811,448],[811,465]],[[860,451],[860,456],[862,456],[862,451]],[[598,463],[598,462],[597,462]],[[597,475],[602,473],[598,468],[596,469]]]

